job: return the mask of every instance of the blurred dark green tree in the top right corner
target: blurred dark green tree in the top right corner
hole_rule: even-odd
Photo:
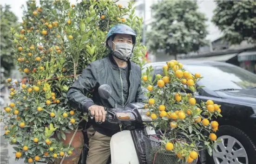
[[[243,40],[256,41],[256,1],[216,0],[212,22],[223,32],[223,38],[230,44]]]

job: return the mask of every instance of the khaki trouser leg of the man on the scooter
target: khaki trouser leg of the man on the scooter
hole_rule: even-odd
[[[89,151],[86,159],[86,164],[106,164],[110,156],[110,139],[96,132],[93,127],[87,129],[89,138]]]

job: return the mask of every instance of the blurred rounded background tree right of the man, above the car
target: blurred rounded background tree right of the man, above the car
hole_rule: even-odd
[[[152,6],[154,21],[147,40],[154,53],[164,49],[167,55],[197,51],[206,45],[205,15],[198,11],[197,1],[163,0]]]

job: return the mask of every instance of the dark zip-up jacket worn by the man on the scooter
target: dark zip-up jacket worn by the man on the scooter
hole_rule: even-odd
[[[141,69],[135,63],[128,61],[129,80],[128,92],[124,95],[123,82],[126,81],[123,71],[118,67],[112,55],[94,61],[83,70],[78,80],[73,83],[67,92],[67,98],[71,107],[81,112],[88,112],[92,105],[113,108],[115,103],[112,98],[104,100],[98,94],[98,87],[102,84],[108,84],[112,88],[112,97],[117,101],[117,107],[122,110],[130,102],[142,102],[145,97],[141,89]],[[92,93],[92,99],[86,97],[87,93]],[[127,97],[127,101],[123,97]],[[102,124],[92,122],[93,128],[104,135],[112,136],[120,131],[118,124],[113,124],[107,120]]]

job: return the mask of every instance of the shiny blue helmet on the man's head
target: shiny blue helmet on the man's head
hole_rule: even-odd
[[[107,40],[106,40],[106,46],[112,50],[112,37],[115,34],[128,34],[131,35],[132,38],[132,44],[133,46],[136,43],[136,33],[131,29],[131,27],[129,27],[128,25],[124,25],[124,24],[119,24],[119,25],[114,25],[108,32],[107,34]],[[108,40],[111,39],[111,45],[108,45]]]

